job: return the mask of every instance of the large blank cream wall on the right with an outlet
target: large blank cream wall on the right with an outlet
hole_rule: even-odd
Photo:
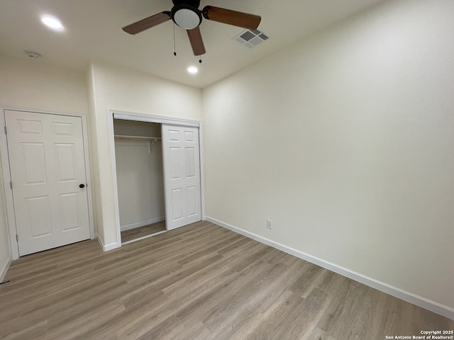
[[[386,1],[204,89],[206,215],[453,308],[453,32]]]

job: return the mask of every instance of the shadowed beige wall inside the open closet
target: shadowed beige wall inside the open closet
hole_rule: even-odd
[[[116,136],[161,137],[158,123],[114,119]],[[121,231],[165,220],[162,143],[115,139]]]

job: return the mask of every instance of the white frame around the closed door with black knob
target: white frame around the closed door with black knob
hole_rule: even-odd
[[[90,227],[90,238],[94,239],[94,217],[93,217],[93,198],[92,198],[92,177],[90,174],[90,162],[89,162],[89,148],[88,148],[88,134],[87,134],[87,120],[85,115],[72,114],[72,113],[56,113],[49,111],[38,111],[21,108],[0,108],[0,154],[1,154],[1,170],[3,171],[3,186],[5,190],[6,200],[6,217],[8,219],[9,227],[9,242],[11,245],[11,256],[13,260],[19,258],[19,244],[16,239],[16,216],[14,214],[14,201],[13,201],[13,190],[11,188],[11,171],[9,166],[9,154],[8,145],[6,140],[6,134],[4,128],[6,126],[5,111],[20,111],[29,113],[45,113],[48,115],[69,115],[72,117],[80,117],[82,120],[82,137],[84,141],[84,160],[85,160],[85,173],[87,176],[87,196],[88,196],[88,215],[89,215],[89,227]]]

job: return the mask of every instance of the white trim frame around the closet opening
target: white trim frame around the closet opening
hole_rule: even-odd
[[[192,126],[199,128],[199,152],[200,152],[200,191],[201,191],[201,219],[205,220],[205,188],[204,188],[204,152],[203,152],[203,131],[202,124],[198,120],[183,120],[178,118],[167,118],[161,115],[150,115],[146,113],[135,113],[109,109],[107,111],[107,130],[108,143],[111,150],[112,181],[114,186],[114,210],[116,225],[116,246],[121,246],[121,225],[120,211],[118,209],[118,188],[116,182],[116,157],[115,157],[115,140],[114,140],[114,118],[123,120],[136,120],[138,122],[159,123],[168,125]]]

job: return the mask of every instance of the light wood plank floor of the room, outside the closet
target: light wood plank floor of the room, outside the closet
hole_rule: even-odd
[[[1,339],[385,339],[454,322],[209,222],[25,256]]]

